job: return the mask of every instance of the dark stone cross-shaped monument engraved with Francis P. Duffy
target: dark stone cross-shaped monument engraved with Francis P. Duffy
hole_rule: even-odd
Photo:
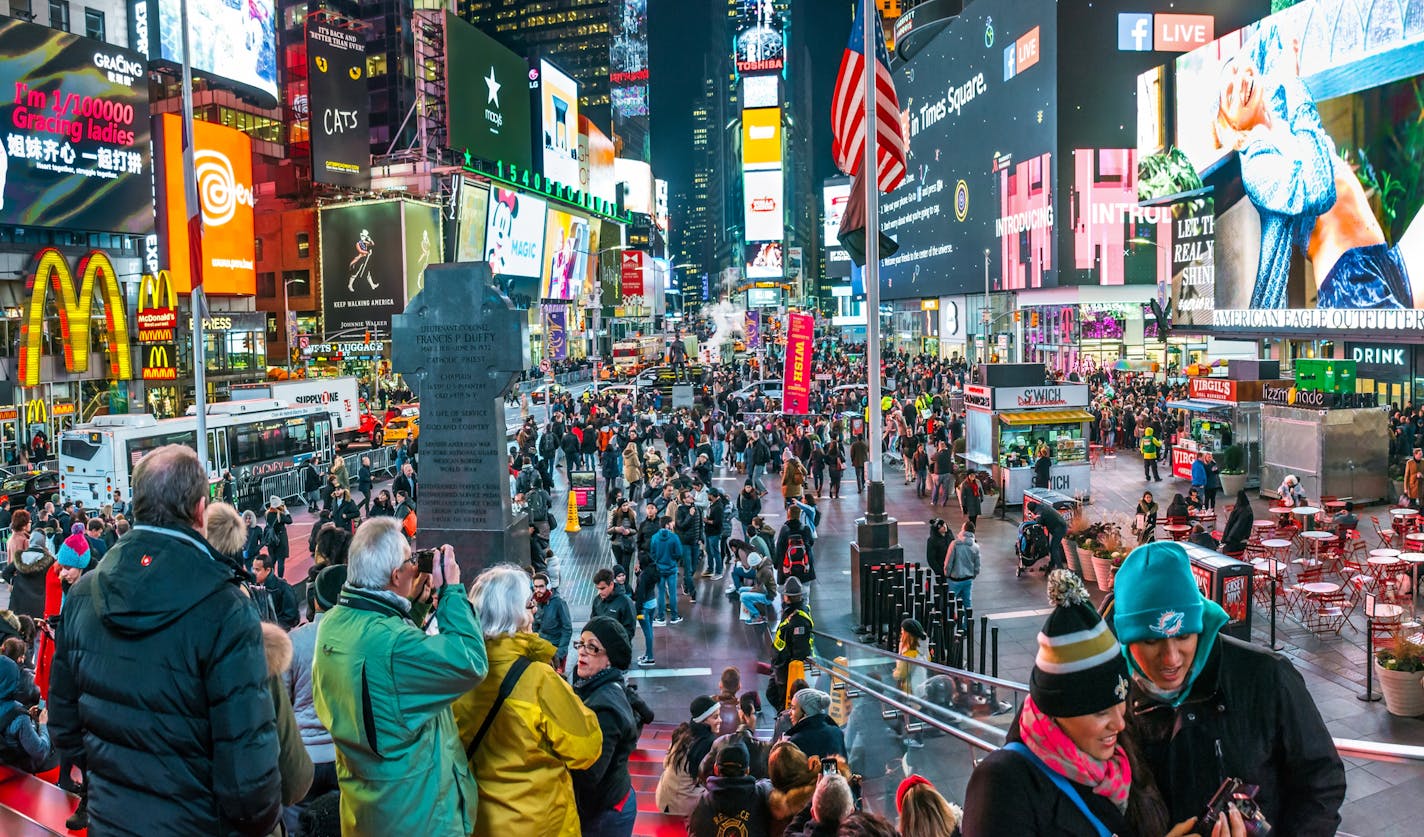
[[[450,544],[461,578],[528,565],[528,518],[511,520],[504,394],[524,370],[528,319],[490,266],[431,265],[392,320],[392,366],[420,397],[420,548]]]

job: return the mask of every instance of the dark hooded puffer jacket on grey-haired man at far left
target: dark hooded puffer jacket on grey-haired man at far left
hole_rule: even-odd
[[[64,596],[50,679],[95,834],[268,834],[282,813],[256,609],[192,530],[140,525]]]

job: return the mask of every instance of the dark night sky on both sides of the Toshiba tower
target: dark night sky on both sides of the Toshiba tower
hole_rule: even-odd
[[[797,17],[806,21],[807,68],[792,65],[792,73],[812,75],[812,120],[815,124],[815,162],[812,174],[819,185],[836,174],[830,158],[830,94],[840,68],[840,56],[850,37],[854,6],[847,0],[792,0],[809,3],[815,11]],[[674,206],[678,195],[692,186],[692,105],[702,91],[702,56],[691,33],[705,33],[712,4],[725,0],[651,0],[648,3],[649,84],[652,87],[652,169],[668,181]],[[711,46],[708,46],[711,48]],[[731,51],[728,41],[723,48]],[[799,56],[789,56],[796,61]],[[817,199],[815,206],[820,206]],[[676,223],[678,218],[674,218]],[[674,233],[676,236],[676,232]],[[676,241],[676,238],[675,238]]]

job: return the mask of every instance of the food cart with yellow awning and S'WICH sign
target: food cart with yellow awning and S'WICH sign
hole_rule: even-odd
[[[1048,487],[1087,500],[1087,384],[1030,387],[964,387],[964,460],[994,473],[1008,505],[1018,505],[1034,484],[1035,450],[1048,444],[1052,457]]]

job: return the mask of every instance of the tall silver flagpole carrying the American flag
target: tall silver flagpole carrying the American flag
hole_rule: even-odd
[[[866,430],[870,458],[866,463],[870,483],[871,514],[884,511],[884,484],[881,475],[881,410],[880,410],[880,171],[876,168],[876,140],[879,132],[876,105],[876,7],[871,0],[862,0],[864,21],[864,67],[866,67],[866,394],[870,400],[870,423]],[[880,508],[874,508],[876,498]]]

